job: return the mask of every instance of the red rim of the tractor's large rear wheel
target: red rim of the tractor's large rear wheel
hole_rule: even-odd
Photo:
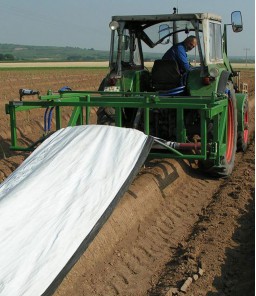
[[[227,150],[226,159],[230,162],[234,148],[234,108],[231,99],[228,100],[228,132],[227,132]]]

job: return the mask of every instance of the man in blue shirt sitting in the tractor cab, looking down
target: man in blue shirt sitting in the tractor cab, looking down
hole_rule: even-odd
[[[191,69],[188,62],[187,52],[197,46],[195,36],[187,37],[183,42],[173,45],[162,57],[162,60],[175,60],[178,63],[181,74]]]

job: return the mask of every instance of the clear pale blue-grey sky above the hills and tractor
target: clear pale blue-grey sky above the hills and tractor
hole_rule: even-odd
[[[109,50],[113,15],[212,12],[230,23],[240,10],[244,30],[228,27],[228,54],[255,55],[254,0],[0,0],[0,43]]]

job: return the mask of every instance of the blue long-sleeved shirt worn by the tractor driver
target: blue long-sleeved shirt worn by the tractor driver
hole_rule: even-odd
[[[184,42],[173,45],[170,49],[167,50],[162,59],[175,60],[178,63],[181,74],[191,69],[191,66],[188,62]]]

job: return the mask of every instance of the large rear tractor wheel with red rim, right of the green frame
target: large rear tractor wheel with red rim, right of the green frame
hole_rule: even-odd
[[[237,105],[235,91],[232,84],[228,84],[228,118],[227,118],[227,143],[226,153],[221,156],[220,165],[214,165],[212,161],[206,160],[200,163],[201,169],[214,177],[228,177],[235,165],[237,148]]]

